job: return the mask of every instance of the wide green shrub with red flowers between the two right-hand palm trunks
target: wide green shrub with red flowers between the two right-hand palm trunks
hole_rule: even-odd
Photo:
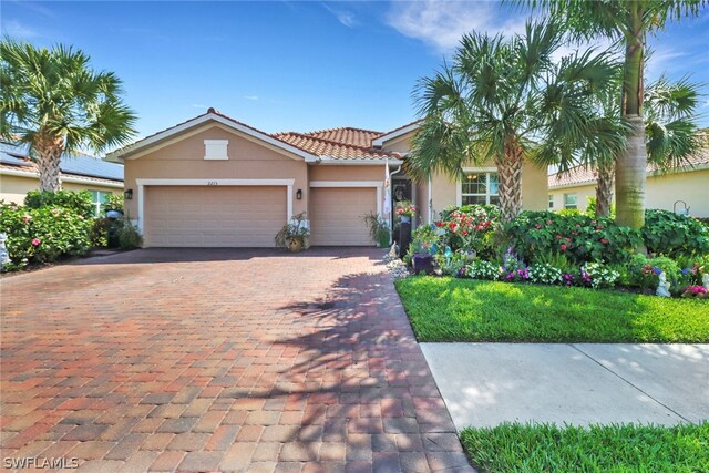
[[[523,212],[505,226],[510,243],[526,260],[540,255],[565,255],[569,261],[626,261],[641,243],[640,233],[609,218]]]

